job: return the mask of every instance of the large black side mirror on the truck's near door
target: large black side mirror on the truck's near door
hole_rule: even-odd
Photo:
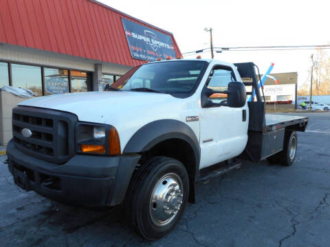
[[[246,91],[242,82],[229,82],[227,102],[228,106],[233,108],[239,108],[245,105]]]

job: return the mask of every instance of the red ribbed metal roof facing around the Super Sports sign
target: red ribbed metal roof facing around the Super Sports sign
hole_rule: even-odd
[[[173,34],[94,0],[1,0],[0,43],[128,66],[143,61],[131,57],[121,18]]]

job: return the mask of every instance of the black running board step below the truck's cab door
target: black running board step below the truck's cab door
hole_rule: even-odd
[[[221,167],[214,165],[210,168],[208,167],[205,169],[201,169],[201,173],[197,180],[197,183],[207,183],[208,180],[210,180],[210,178],[221,176],[223,174],[226,174],[227,172],[232,171],[233,169],[239,169],[241,165],[242,165],[241,161],[236,161]]]

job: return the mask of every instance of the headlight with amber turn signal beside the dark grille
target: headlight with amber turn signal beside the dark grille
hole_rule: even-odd
[[[120,140],[113,126],[78,123],[76,130],[77,152],[120,154]]]

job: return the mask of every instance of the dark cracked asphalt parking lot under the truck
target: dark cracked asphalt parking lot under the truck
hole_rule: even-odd
[[[292,167],[243,163],[197,186],[175,230],[148,242],[122,208],[83,209],[14,185],[0,156],[1,246],[330,246],[330,113],[305,113]]]

